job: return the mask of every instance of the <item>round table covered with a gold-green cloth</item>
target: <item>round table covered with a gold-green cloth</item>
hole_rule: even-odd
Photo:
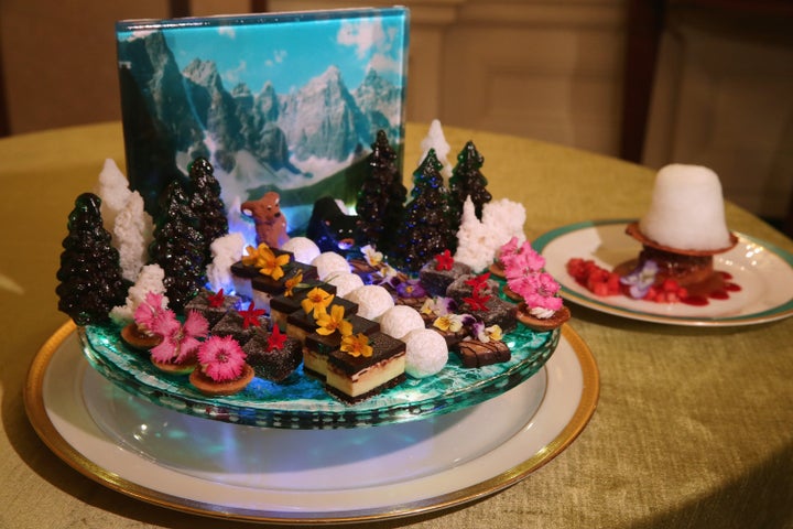
[[[409,186],[427,131],[425,123],[406,127]],[[523,204],[529,240],[565,226],[636,219],[650,204],[655,171],[649,168],[487,131],[445,127],[444,133],[452,162],[471,140],[493,198]],[[170,508],[108,486],[111,477],[80,472],[64,461],[68,454],[50,450],[52,440],[40,436],[46,431],[29,417],[31,366],[68,322],[55,294],[67,217],[75,197],[96,188],[106,159],[123,171],[120,122],[0,140],[0,528],[251,527],[221,511]],[[793,241],[784,235],[729,202],[726,219],[790,267]],[[590,413],[554,456],[502,482],[509,486],[360,525],[793,527],[793,319],[685,325],[566,304],[566,326],[590,353],[597,388],[589,388]],[[262,525],[272,521],[279,520]]]

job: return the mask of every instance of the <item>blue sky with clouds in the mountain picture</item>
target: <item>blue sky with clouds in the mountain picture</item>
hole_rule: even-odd
[[[229,91],[242,82],[258,93],[270,80],[276,93],[286,94],[321,75],[329,65],[340,69],[351,90],[363,79],[369,64],[398,86],[403,83],[405,18],[401,11],[332,19],[290,17],[278,23],[257,24],[230,24],[226,19],[209,18],[200,19],[207,21],[206,25],[166,25],[164,35],[180,69],[196,57],[213,61]]]

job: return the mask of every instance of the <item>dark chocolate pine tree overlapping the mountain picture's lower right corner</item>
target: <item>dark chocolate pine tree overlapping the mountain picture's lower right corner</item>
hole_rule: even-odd
[[[369,173],[358,192],[356,213],[360,244],[388,252],[404,210],[408,190],[397,166],[397,153],[384,130],[379,130],[367,159]]]

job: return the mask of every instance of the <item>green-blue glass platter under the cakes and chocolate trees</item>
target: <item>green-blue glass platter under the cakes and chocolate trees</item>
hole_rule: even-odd
[[[408,379],[357,403],[330,397],[324,384],[303,374],[302,366],[286,380],[274,384],[254,378],[230,397],[206,397],[186,375],[157,369],[146,354],[135,352],[120,338],[120,327],[78,327],[83,352],[107,379],[154,404],[206,419],[264,428],[362,428],[421,420],[481,403],[528,380],[548,360],[561,331],[537,333],[518,324],[504,337],[511,359],[480,368],[463,367],[455,353],[435,376]]]

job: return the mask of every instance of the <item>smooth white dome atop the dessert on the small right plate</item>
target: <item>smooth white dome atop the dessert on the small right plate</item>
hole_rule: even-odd
[[[713,251],[730,247],[718,175],[702,165],[662,168],[639,229],[648,239],[672,249]]]

